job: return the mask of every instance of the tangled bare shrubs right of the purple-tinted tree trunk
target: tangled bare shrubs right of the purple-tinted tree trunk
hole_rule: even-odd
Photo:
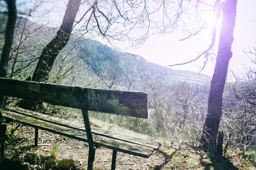
[[[233,73],[233,72],[232,72]],[[227,133],[224,152],[237,147],[241,151],[256,147],[256,72],[247,69],[243,77],[233,74],[235,82],[227,83],[224,91],[224,115],[221,125]]]

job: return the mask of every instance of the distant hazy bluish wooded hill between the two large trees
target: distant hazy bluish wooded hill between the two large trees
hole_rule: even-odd
[[[81,44],[80,50],[84,55],[89,55],[87,59],[94,71],[103,68],[106,62],[110,62],[113,67],[119,66],[119,75],[129,72],[132,78],[144,78],[145,76],[157,77],[160,81],[169,83],[186,81],[194,84],[205,84],[211,81],[211,77],[198,72],[176,70],[167,66],[160,66],[146,61],[143,57],[127,52],[117,51],[95,40],[87,40]]]

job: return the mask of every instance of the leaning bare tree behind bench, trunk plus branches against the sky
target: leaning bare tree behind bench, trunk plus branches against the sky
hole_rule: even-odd
[[[146,2],[84,1],[81,3],[81,9],[85,9],[86,12],[78,21],[75,21],[80,3],[81,0],[69,1],[61,27],[55,38],[44,48],[32,81],[48,80],[55,58],[67,44],[72,30],[75,28],[77,29],[73,34],[77,36],[97,37],[102,35],[111,44],[114,40],[128,40],[131,29],[147,29],[146,33],[137,39],[137,43],[144,42],[148,36],[150,21]],[[135,11],[137,14],[134,14]],[[73,25],[73,23],[75,24]],[[118,25],[120,27],[117,27]],[[124,37],[126,38],[124,39]]]

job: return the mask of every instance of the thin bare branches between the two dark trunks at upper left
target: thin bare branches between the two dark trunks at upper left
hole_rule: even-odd
[[[39,52],[43,49],[41,46],[46,43],[46,29],[49,30],[48,32],[52,32],[53,28],[47,27],[49,21],[44,24],[38,23],[47,14],[47,12],[38,14],[38,7],[43,5],[44,1],[39,0],[35,1],[29,10],[23,12],[18,9],[18,13],[21,13],[22,17],[19,17],[16,22],[14,42],[9,57],[11,68],[7,78],[25,79],[28,77],[27,74],[32,72],[32,67],[39,58]],[[37,14],[37,18],[34,18],[33,21],[29,20],[29,17],[35,16],[35,14]]]

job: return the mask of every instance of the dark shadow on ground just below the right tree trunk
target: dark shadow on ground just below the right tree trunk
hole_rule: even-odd
[[[207,158],[200,158],[205,170],[239,170],[229,158],[225,156],[213,156],[208,154]]]

